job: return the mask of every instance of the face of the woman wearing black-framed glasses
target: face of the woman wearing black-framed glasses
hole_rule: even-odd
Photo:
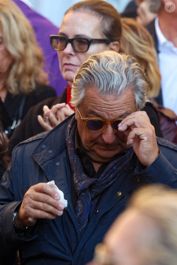
[[[83,11],[71,11],[64,16],[59,35],[69,39],[76,37],[105,39],[101,33],[101,28],[102,23],[98,16]],[[90,55],[109,49],[109,44],[92,43],[87,52],[81,53],[75,52],[71,44],[68,43],[63,51],[57,52],[63,78],[72,83],[78,68]]]

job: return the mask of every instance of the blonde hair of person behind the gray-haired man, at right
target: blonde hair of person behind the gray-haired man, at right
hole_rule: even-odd
[[[148,98],[158,95],[161,74],[157,52],[150,33],[132,18],[121,18],[121,51],[135,57],[143,71],[148,85]]]

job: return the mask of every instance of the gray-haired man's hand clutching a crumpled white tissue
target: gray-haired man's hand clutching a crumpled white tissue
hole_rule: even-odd
[[[14,222],[20,228],[33,226],[37,219],[54,219],[63,214],[64,204],[60,203],[60,194],[47,183],[31,186],[25,193],[23,202]]]

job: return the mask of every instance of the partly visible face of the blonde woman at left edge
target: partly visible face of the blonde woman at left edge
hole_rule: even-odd
[[[2,30],[0,30],[0,62],[0,74],[7,73],[13,63],[13,57],[5,48]]]

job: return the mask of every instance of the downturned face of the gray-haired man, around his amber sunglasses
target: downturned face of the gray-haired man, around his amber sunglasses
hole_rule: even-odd
[[[115,98],[103,97],[94,87],[89,87],[78,109],[83,118],[99,117],[104,120],[125,118],[137,111],[131,88],[127,88],[126,92]],[[101,131],[89,131],[77,111],[76,120],[82,144],[92,162],[108,163],[115,154],[129,147],[125,133],[114,131],[110,124],[105,124]]]

